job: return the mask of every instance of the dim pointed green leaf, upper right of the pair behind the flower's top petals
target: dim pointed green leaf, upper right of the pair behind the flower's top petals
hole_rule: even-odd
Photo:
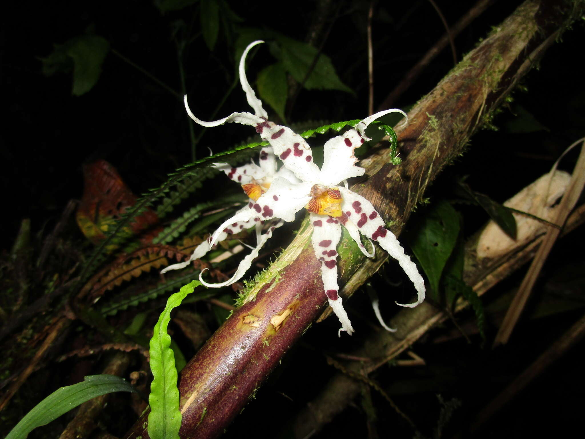
[[[315,47],[284,35],[275,33],[275,37],[280,43],[280,60],[284,68],[307,90],[341,90],[353,93],[353,90],[339,79],[331,59],[326,54],[319,54]],[[314,64],[318,54],[318,60]],[[311,73],[305,81],[309,70]]]

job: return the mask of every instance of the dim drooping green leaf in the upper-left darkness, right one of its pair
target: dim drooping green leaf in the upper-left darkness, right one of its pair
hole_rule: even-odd
[[[83,35],[67,50],[73,59],[73,95],[87,93],[98,82],[102,64],[109,52],[109,43],[98,35]]]

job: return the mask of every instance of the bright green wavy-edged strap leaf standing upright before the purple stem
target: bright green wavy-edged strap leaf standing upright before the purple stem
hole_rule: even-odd
[[[179,306],[187,294],[201,285],[193,280],[181,287],[167,300],[167,306],[154,325],[154,334],[150,339],[150,369],[153,381],[150,385],[150,413],[148,416],[148,434],[151,439],[179,439],[181,428],[181,411],[179,410],[179,390],[177,389],[177,368],[173,349],[170,348],[171,337],[168,335],[168,322],[171,311]]]

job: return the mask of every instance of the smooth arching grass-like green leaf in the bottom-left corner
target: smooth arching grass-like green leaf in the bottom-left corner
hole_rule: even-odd
[[[78,405],[111,392],[136,392],[134,387],[116,375],[84,376],[83,382],[60,387],[29,411],[6,439],[23,439],[36,427],[44,426]]]

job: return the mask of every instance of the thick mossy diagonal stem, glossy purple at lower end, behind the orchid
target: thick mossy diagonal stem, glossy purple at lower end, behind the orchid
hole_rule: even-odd
[[[459,155],[476,129],[552,45],[579,11],[575,4],[527,1],[472,52],[467,54],[409,113],[409,124],[397,129],[401,166],[388,163],[380,148],[360,162],[369,179],[352,190],[368,198],[383,218],[394,219],[398,235],[409,212],[443,167]],[[185,366],[179,390],[183,412],[181,437],[212,438],[223,433],[233,417],[319,315],[325,295],[319,263],[305,221],[291,245],[259,277],[249,301],[219,328]],[[364,264],[352,243],[340,243],[345,291],[352,293],[386,258]],[[359,253],[359,255],[357,254]],[[382,252],[378,252],[381,255]],[[405,310],[411,330],[425,330],[415,317],[428,304]],[[412,320],[410,320],[412,318]],[[126,438],[148,436],[147,414]]]

